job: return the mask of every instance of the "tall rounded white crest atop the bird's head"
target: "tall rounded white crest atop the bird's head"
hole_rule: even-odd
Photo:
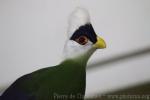
[[[68,36],[71,37],[80,26],[90,23],[89,12],[85,8],[76,8],[69,18]]]

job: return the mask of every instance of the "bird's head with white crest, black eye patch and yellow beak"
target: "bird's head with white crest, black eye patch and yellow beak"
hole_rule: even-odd
[[[106,48],[105,41],[95,33],[88,11],[84,8],[75,9],[69,19],[65,58],[88,60],[96,49],[103,48]]]

